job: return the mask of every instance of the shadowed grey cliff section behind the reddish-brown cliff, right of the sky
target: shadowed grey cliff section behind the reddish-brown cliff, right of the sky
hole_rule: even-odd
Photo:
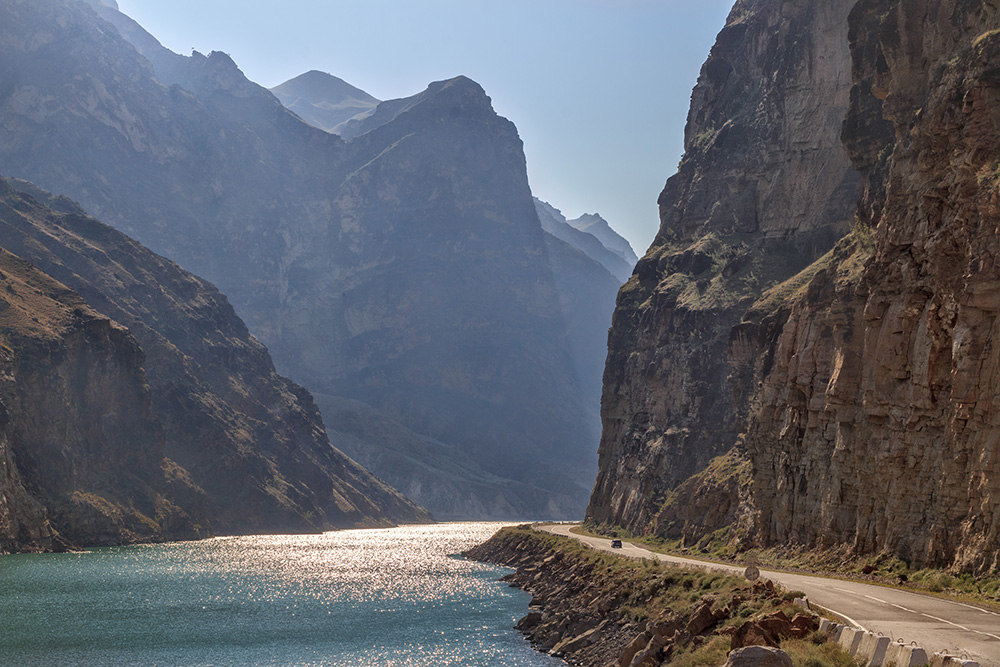
[[[741,0],[719,34],[660,232],[618,295],[591,520],[645,530],[734,445],[748,406],[729,385],[730,330],[848,229],[860,191],[840,145],[852,5]]]

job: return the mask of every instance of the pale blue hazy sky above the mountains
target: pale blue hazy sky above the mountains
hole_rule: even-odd
[[[379,99],[478,81],[524,141],[535,195],[600,213],[641,256],[691,88],[733,0],[118,0],[182,54],[273,87],[311,69]]]

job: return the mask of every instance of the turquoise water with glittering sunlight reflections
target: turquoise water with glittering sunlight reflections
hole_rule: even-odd
[[[3,665],[554,667],[528,596],[450,556],[499,524],[0,557]]]

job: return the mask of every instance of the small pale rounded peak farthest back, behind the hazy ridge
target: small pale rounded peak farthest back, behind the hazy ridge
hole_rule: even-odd
[[[275,86],[271,92],[307,123],[335,133],[339,125],[371,111],[379,103],[343,79],[316,70]]]

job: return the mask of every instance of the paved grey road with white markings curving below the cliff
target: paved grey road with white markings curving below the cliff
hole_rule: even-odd
[[[626,542],[622,549],[611,549],[611,540],[571,533],[575,525],[540,526],[541,530],[575,538],[594,549],[613,551],[634,558],[658,558],[678,565],[710,567],[742,573],[743,568],[678,558],[648,551]],[[787,589],[802,591],[811,603],[829,609],[838,616],[871,632],[906,643],[915,641],[928,653],[948,651],[968,656],[982,667],[1000,667],[1000,614],[972,605],[909,591],[839,579],[824,579],[802,574],[761,570],[761,576],[773,579]]]

